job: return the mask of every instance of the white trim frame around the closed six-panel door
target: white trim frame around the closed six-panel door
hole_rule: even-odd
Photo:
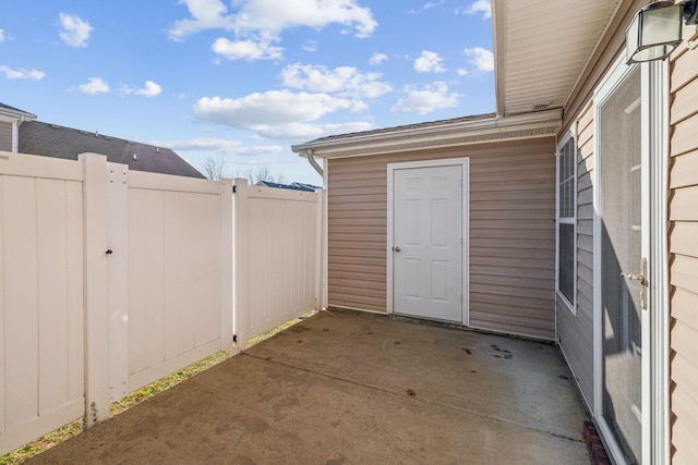
[[[470,158],[447,158],[440,160],[420,160],[407,161],[400,163],[388,163],[387,166],[387,247],[385,250],[387,260],[387,310],[388,314],[394,313],[393,308],[393,261],[395,254],[393,253],[394,244],[394,215],[395,215],[395,195],[394,181],[395,171],[414,168],[432,168],[432,167],[453,167],[459,166],[462,174],[462,269],[461,269],[461,321],[462,326],[470,326]]]

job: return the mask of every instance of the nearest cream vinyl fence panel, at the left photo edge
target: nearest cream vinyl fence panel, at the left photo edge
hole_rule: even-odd
[[[0,152],[0,453],[84,414],[82,175]]]

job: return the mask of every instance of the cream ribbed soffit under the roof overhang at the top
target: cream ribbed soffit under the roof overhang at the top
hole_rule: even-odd
[[[493,0],[497,114],[563,108],[621,3]]]

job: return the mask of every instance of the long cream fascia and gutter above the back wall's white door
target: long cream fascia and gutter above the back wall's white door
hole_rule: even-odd
[[[347,134],[291,147],[301,157],[312,150],[318,158],[380,155],[411,149],[448,147],[515,138],[554,136],[562,124],[562,110],[546,110],[488,120],[464,121],[366,134]]]

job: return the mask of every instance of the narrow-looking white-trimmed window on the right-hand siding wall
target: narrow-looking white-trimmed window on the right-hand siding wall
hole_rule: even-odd
[[[577,278],[577,142],[570,132],[557,147],[557,293],[575,311]]]

